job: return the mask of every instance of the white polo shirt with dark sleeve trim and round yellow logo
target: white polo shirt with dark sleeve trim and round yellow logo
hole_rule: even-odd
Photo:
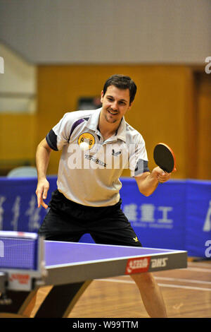
[[[50,148],[62,150],[58,191],[84,206],[115,205],[124,168],[130,169],[132,177],[149,171],[141,134],[123,117],[117,132],[103,141],[100,113],[101,108],[66,113],[46,136]]]

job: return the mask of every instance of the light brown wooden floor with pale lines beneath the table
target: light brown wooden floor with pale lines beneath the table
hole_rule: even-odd
[[[153,275],[161,287],[170,318],[211,317],[211,261],[189,261],[186,269]],[[48,290],[49,287],[41,288],[38,302]],[[94,280],[69,317],[148,318],[148,314],[134,281],[123,275]]]

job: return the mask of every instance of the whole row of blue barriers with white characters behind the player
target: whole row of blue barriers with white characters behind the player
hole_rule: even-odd
[[[56,177],[49,177],[51,192]],[[122,178],[122,210],[143,247],[187,250],[188,256],[211,256],[211,182],[171,180],[149,197],[132,178]],[[46,210],[37,208],[37,179],[0,178],[0,230],[37,232]],[[93,242],[84,235],[80,242]]]

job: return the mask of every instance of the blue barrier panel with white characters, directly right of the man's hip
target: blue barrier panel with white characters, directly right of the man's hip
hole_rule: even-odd
[[[122,210],[143,247],[185,248],[185,182],[160,184],[146,197],[131,180],[123,184],[121,196]]]

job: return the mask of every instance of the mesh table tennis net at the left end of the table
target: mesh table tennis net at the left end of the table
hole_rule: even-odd
[[[37,269],[37,239],[0,236],[0,269]]]

